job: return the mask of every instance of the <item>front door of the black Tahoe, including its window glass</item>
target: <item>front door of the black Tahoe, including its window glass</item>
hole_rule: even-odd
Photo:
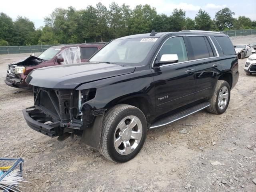
[[[161,46],[156,61],[163,54],[177,54],[178,62],[152,68],[158,115],[170,112],[195,100],[195,65],[188,61],[182,36],[171,37]]]

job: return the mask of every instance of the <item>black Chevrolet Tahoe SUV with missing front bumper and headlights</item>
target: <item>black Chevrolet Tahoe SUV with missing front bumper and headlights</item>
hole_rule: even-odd
[[[190,31],[113,40],[88,62],[30,72],[34,130],[82,142],[114,162],[138,154],[148,129],[206,108],[226,111],[238,81],[238,57],[227,35]]]

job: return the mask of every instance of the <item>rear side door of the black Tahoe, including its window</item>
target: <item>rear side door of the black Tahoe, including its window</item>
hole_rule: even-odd
[[[210,36],[187,36],[196,68],[196,100],[210,98],[222,68]]]

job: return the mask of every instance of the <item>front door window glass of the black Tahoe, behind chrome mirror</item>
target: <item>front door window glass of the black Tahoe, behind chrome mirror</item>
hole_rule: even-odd
[[[173,37],[166,40],[159,51],[157,59],[160,60],[164,54],[177,54],[178,62],[187,61],[188,54],[183,37]]]

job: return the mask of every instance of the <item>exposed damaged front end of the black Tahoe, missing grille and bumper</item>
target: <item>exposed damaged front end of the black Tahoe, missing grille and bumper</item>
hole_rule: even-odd
[[[105,110],[96,110],[86,103],[95,97],[96,89],[34,87],[33,91],[34,106],[23,110],[30,128],[50,137],[58,136],[60,141],[74,134],[82,136],[86,144],[98,148]]]

